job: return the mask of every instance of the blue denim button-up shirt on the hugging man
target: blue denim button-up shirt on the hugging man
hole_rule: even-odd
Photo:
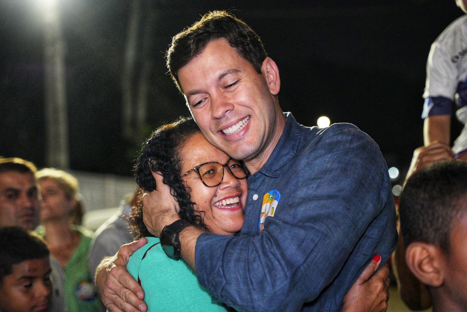
[[[268,161],[248,177],[241,233],[198,237],[198,279],[238,311],[340,311],[370,259],[385,263],[396,248],[388,169],[354,125],[308,128],[286,116]],[[263,195],[274,189],[280,199],[260,231]]]

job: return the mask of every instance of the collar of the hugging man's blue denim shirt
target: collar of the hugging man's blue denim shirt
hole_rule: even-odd
[[[287,118],[284,131],[268,161],[259,170],[259,172],[273,178],[279,177],[287,164],[291,162],[301,141],[301,126],[293,118],[292,113],[284,112],[284,115]]]

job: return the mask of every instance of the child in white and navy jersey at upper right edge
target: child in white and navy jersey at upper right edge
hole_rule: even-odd
[[[467,0],[456,0],[467,13]],[[465,125],[452,147],[455,157],[467,160],[467,15],[453,21],[433,42],[426,62],[423,97],[424,144],[451,146],[453,102],[456,118]]]

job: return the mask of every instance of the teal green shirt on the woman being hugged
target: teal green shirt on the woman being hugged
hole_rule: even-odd
[[[148,243],[130,257],[127,270],[140,282],[148,312],[226,311],[224,305],[211,299],[182,260],[175,261],[165,255],[159,238],[147,239]]]

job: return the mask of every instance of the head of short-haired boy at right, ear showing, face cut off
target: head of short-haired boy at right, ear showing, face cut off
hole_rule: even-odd
[[[467,311],[467,162],[439,162],[414,173],[399,212],[407,265],[428,286],[433,306]]]

